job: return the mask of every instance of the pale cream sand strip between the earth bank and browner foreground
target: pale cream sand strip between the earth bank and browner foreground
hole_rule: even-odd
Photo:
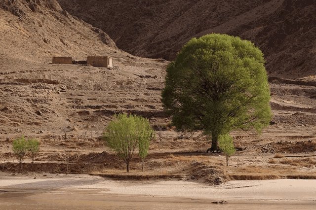
[[[117,181],[89,175],[46,177],[1,176],[0,190],[34,193],[87,193],[98,195],[148,196],[230,203],[314,203],[316,180],[279,179],[229,181],[220,186],[188,181]]]

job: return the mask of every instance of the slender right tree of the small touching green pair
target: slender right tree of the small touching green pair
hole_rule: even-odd
[[[136,117],[138,127],[138,154],[142,159],[142,171],[144,171],[144,161],[148,156],[148,150],[151,140],[155,138],[155,131],[149,124],[149,120],[143,117]]]

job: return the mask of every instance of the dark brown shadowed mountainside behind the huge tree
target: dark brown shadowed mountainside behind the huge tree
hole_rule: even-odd
[[[306,78],[316,69],[316,0],[58,0],[136,56],[172,60],[190,38],[250,39],[270,75]]]

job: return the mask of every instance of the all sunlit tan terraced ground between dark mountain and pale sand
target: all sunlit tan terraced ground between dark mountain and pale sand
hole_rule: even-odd
[[[3,171],[19,171],[11,143],[24,134],[41,140],[36,163],[27,157],[24,171],[207,183],[315,177],[315,76],[270,77],[274,123],[262,136],[232,133],[240,151],[225,167],[223,155],[204,153],[210,142],[203,135],[177,133],[170,127],[160,102],[167,61],[119,50],[103,31],[71,16],[55,0],[1,1],[0,49]],[[52,56],[82,61],[87,55],[110,55],[114,68],[51,64]],[[100,140],[118,112],[148,117],[157,130],[144,173],[137,156],[132,172],[125,173],[123,162]],[[276,153],[284,157],[275,158]]]

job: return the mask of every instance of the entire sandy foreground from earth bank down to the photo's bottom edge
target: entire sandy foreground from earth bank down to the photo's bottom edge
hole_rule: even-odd
[[[208,186],[187,181],[115,181],[89,175],[11,176],[0,180],[0,204],[9,209],[313,209],[316,180],[229,181]],[[34,206],[36,205],[36,206]]]

